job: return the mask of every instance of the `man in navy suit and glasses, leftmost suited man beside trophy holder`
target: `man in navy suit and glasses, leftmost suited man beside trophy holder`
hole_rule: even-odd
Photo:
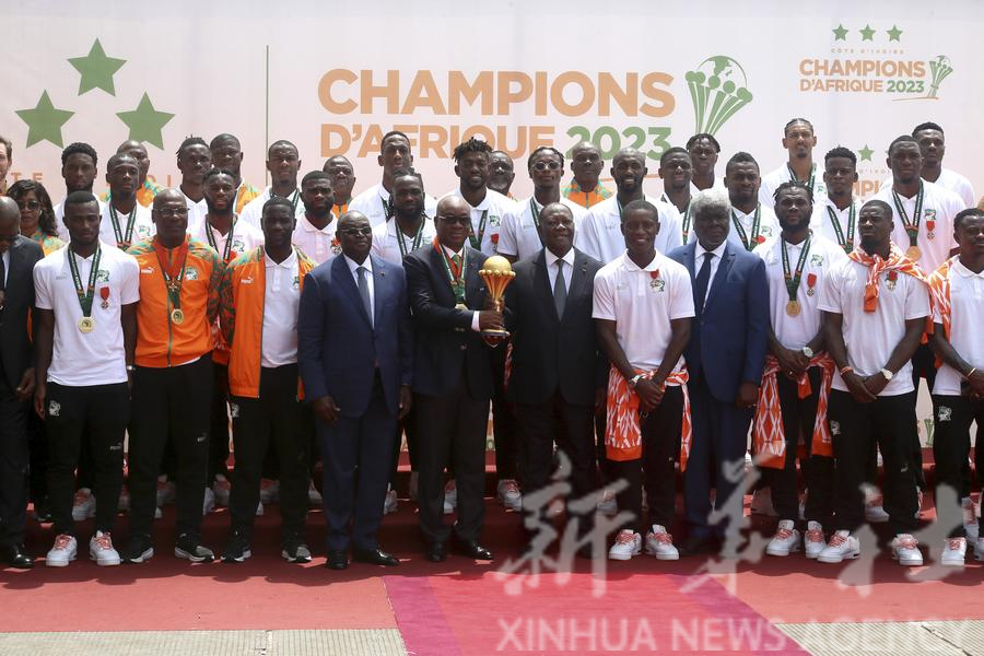
[[[351,522],[354,560],[394,566],[399,561],[379,549],[377,534],[397,421],[411,402],[407,283],[402,269],[370,254],[363,214],[342,215],[338,234],[343,257],[305,277],[297,319],[301,378],[325,461],[327,565],[349,566]]]

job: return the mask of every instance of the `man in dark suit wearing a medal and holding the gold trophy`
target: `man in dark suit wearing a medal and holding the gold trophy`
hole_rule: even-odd
[[[444,524],[444,469],[454,457],[458,522],[454,526],[461,552],[492,560],[481,546],[484,505],[485,425],[492,396],[489,347],[481,330],[502,328],[502,315],[484,308],[488,301],[479,270],[485,256],[470,248],[468,202],[448,196],[437,203],[432,246],[403,260],[413,311],[413,393],[420,440],[420,528],[426,558],[447,555],[452,528]],[[501,347],[505,348],[505,347]]]

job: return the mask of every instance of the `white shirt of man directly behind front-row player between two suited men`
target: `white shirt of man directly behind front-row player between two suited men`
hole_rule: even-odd
[[[656,206],[659,212],[659,233],[656,235],[656,250],[667,254],[683,245],[683,221],[680,212],[668,202],[645,196],[646,202]],[[692,232],[692,231],[691,231]],[[622,216],[616,196],[602,200],[588,210],[574,233],[574,245],[601,262],[611,262],[625,253],[625,236],[622,235]]]

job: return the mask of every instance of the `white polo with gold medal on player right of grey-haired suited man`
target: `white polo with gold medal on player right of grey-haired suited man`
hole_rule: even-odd
[[[805,245],[806,241],[786,245],[790,273],[795,273]],[[765,277],[769,280],[769,315],[772,319],[775,338],[787,349],[798,351],[807,345],[820,330],[820,308],[818,306],[823,280],[833,267],[847,259],[847,255],[834,242],[813,233],[810,239],[810,250],[804,262],[799,289],[796,292],[800,313],[790,317],[786,313],[789,292],[786,289],[786,274],[783,268],[782,235],[760,244],[754,249],[754,254],[765,261]]]

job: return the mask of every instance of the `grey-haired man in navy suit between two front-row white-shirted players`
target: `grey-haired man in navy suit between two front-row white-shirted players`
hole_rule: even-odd
[[[712,524],[712,477],[717,490],[715,514],[719,517],[724,508],[735,514],[731,496],[742,493],[738,488],[769,332],[765,265],[728,243],[731,208],[727,196],[702,191],[690,207],[696,241],[669,255],[690,272],[696,313],[683,352],[693,412],[693,444],[683,476],[690,527],[680,548],[683,555],[707,551],[715,538],[722,540],[740,528],[740,503],[738,516]]]

